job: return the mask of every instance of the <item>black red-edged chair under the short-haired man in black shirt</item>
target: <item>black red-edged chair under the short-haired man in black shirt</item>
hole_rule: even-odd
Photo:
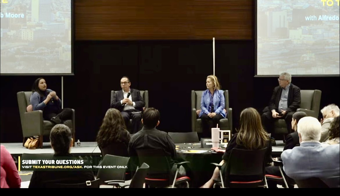
[[[171,174],[168,157],[161,148],[155,149],[140,149],[137,150],[139,164],[146,163],[150,166],[147,177],[145,178],[145,187],[168,187],[172,184],[172,188],[182,183],[186,183],[189,188],[189,177],[183,176],[177,178],[179,168],[184,163],[175,163],[177,166],[176,174]]]

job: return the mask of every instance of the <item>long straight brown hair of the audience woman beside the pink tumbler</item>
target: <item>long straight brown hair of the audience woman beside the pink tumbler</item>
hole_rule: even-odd
[[[246,108],[241,112],[240,130],[236,142],[246,149],[262,149],[269,141],[268,133],[263,129],[261,116],[254,108]]]

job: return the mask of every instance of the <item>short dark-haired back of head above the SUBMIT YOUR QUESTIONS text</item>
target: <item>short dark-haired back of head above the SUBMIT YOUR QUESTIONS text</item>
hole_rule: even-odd
[[[50,141],[54,154],[69,153],[72,142],[72,133],[70,128],[64,124],[55,125],[50,133]]]

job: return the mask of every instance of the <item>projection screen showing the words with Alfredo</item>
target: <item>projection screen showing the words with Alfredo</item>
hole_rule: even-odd
[[[257,76],[339,75],[340,0],[257,0]]]

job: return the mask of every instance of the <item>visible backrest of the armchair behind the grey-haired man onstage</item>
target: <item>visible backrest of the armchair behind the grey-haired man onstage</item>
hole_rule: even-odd
[[[321,91],[301,90],[300,108],[314,111],[313,117],[318,117],[320,111]]]

